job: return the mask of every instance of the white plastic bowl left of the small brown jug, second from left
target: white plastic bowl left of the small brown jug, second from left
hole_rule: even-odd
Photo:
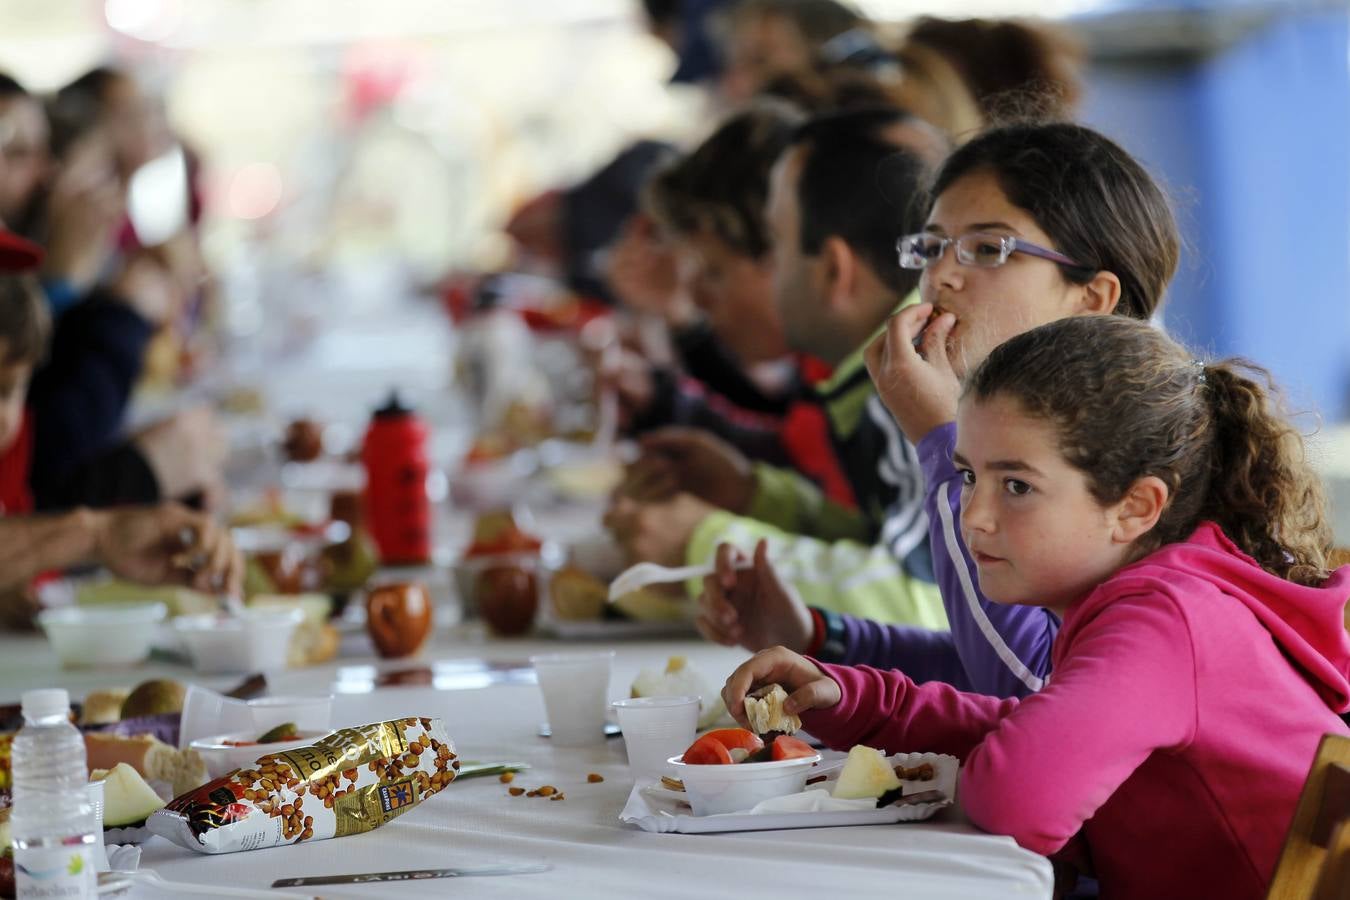
[[[286,668],[300,609],[243,610],[239,615],[184,615],[174,631],[198,672],[271,672]]]

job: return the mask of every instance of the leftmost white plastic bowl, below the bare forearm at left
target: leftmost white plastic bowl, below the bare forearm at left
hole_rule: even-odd
[[[38,625],[66,668],[136,665],[167,615],[163,603],[43,610]]]

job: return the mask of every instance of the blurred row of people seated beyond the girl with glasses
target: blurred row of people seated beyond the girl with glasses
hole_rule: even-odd
[[[896,239],[944,159],[1072,119],[1083,51],[1044,22],[882,26],[834,0],[644,11],[707,92],[707,136],[633,143],[508,225],[520,267],[620,322],[597,382],[643,452],[606,524],[668,565],[767,538],[809,602],[945,627],[918,460],[863,351],[918,300]]]

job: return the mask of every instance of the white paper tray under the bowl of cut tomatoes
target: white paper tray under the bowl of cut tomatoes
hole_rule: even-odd
[[[956,757],[941,753],[896,753],[887,757],[891,765],[913,768],[932,762],[937,777],[930,783],[910,783],[919,789],[937,789],[942,800],[915,806],[882,807],[880,810],[845,810],[832,812],[726,812],[721,815],[697,816],[680,800],[680,795],[668,791],[652,779],[639,779],[628,795],[621,822],[653,834],[716,834],[720,831],[775,831],[780,828],[829,828],[850,824],[892,824],[895,822],[921,822],[952,804],[956,796]],[[824,787],[833,784],[838,770]],[[922,785],[922,787],[919,787]],[[822,787],[822,785],[813,785]]]

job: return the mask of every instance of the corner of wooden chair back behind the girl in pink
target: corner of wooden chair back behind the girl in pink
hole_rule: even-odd
[[[1266,900],[1350,900],[1350,737],[1318,745]]]

